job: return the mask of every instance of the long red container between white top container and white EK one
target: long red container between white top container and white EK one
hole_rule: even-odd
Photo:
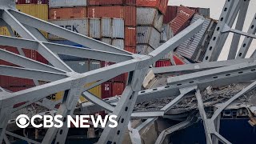
[[[86,7],[50,8],[49,19],[86,18]]]

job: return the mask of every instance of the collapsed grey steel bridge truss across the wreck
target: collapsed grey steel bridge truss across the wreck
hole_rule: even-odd
[[[63,29],[60,26],[55,26],[49,22],[44,22],[38,18],[23,14],[14,8],[14,1],[2,0],[0,2],[1,26],[7,26],[11,34],[11,28],[14,29],[22,38],[14,38],[14,34],[12,34],[13,37],[1,36],[1,45],[18,47],[21,55],[0,49],[0,58],[22,67],[0,66],[1,75],[34,79],[36,85],[38,85],[38,80],[49,83],[15,93],[6,92],[3,89],[0,90],[0,142],[4,140],[6,143],[10,143],[6,137],[7,134],[33,143],[47,144],[53,142],[54,139],[56,144],[64,143],[68,133],[68,128],[65,127],[65,125],[60,129],[52,127],[47,130],[42,142],[35,142],[34,140],[11,133],[6,130],[6,126],[10,120],[10,113],[20,110],[25,106],[29,106],[34,102],[53,110],[53,105],[57,103],[50,103],[50,105],[47,105],[46,103],[49,101],[46,100],[46,96],[65,90],[60,107],[57,111],[52,113],[61,114],[64,123],[66,122],[65,119],[67,115],[73,115],[78,98],[81,94],[90,101],[82,104],[82,114],[107,110],[110,111],[111,114],[118,116],[118,127],[106,127],[103,130],[98,143],[122,143],[126,130],[130,130],[130,138],[132,142],[140,143],[140,130],[149,126],[150,123],[154,122],[158,117],[164,116],[166,112],[178,104],[182,98],[186,98],[191,93],[194,93],[192,95],[195,95],[198,100],[199,113],[191,114],[185,122],[181,122],[180,124],[163,131],[162,134],[159,135],[156,143],[161,143],[166,134],[190,126],[199,115],[205,126],[207,143],[216,143],[218,140],[223,143],[230,143],[226,138],[223,138],[218,134],[218,116],[231,102],[234,102],[235,99],[239,98],[249,90],[254,89],[256,82],[253,82],[250,86],[246,87],[246,89],[225,102],[215,111],[212,118],[206,117],[200,90],[204,90],[207,86],[224,86],[230,83],[256,79],[256,61],[254,58],[230,60],[226,62],[209,62],[217,60],[218,55],[226,42],[227,32],[235,33],[230,49],[230,59],[235,58],[240,35],[247,36],[244,42],[246,46],[242,45],[242,54],[239,56],[241,58],[245,57],[252,38],[255,38],[253,35],[255,33],[255,21],[252,22],[251,26],[251,29],[253,30],[248,31],[248,33],[251,34],[239,31],[242,30],[243,23],[240,21],[246,16],[248,5],[248,0],[226,0],[226,4],[218,21],[218,26],[214,31],[214,36],[211,39],[206,52],[205,63],[153,69],[155,73],[159,74],[182,72],[185,75],[169,78],[167,86],[140,91],[142,82],[150,65],[201,30],[203,20],[194,22],[194,24],[186,28],[186,30],[183,30],[174,38],[171,38],[168,42],[158,47],[158,49],[154,50],[149,55],[140,55],[131,54],[125,50],[120,50],[114,46],[98,42],[93,38],[88,38],[82,34],[74,33],[70,30]],[[239,22],[236,28],[238,30],[231,30],[229,27],[233,26],[234,19],[237,15]],[[50,34],[57,35],[83,46],[88,46],[90,49],[48,42],[39,30],[44,30]],[[50,62],[51,66],[26,58],[24,54],[22,54],[21,48],[23,47],[37,50],[38,53],[42,54],[42,56]],[[92,70],[84,74],[78,74],[67,66],[65,62],[62,62],[58,57],[58,54],[117,62],[117,64],[98,70]],[[120,99],[110,98],[105,101],[86,91],[126,72],[129,72],[129,78],[127,80],[126,89]],[[95,83],[93,86],[84,87],[90,82]],[[174,100],[164,106],[161,110],[147,112],[133,111],[136,102],[146,102],[166,97],[173,97]],[[43,101],[38,102],[41,99],[43,99]],[[14,104],[20,102],[25,102],[25,104],[14,108]],[[114,105],[114,103],[117,104]],[[142,118],[147,120],[134,129],[130,127],[130,118]]]

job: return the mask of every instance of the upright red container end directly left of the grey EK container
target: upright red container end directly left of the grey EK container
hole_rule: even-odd
[[[130,47],[136,47],[136,27],[126,26],[125,28],[125,45]]]

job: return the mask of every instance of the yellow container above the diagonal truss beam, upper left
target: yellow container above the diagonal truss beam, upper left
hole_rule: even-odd
[[[16,9],[35,18],[42,19],[44,21],[48,20],[48,5],[47,4],[24,4],[24,5],[16,5]],[[48,33],[40,30],[41,33],[48,38]]]

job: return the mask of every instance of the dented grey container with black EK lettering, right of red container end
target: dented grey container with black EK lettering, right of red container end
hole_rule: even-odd
[[[160,32],[152,26],[137,26],[137,44],[148,44],[156,49],[160,42]]]

